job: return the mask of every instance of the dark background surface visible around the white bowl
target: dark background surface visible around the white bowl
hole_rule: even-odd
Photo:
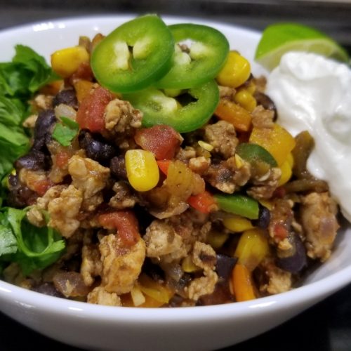
[[[351,53],[351,1],[345,0],[0,0],[0,29],[54,18],[150,12],[253,29],[279,21],[301,22],[326,32]],[[0,350],[79,349],[41,336],[0,314]],[[351,285],[282,326],[225,350],[351,351]]]

